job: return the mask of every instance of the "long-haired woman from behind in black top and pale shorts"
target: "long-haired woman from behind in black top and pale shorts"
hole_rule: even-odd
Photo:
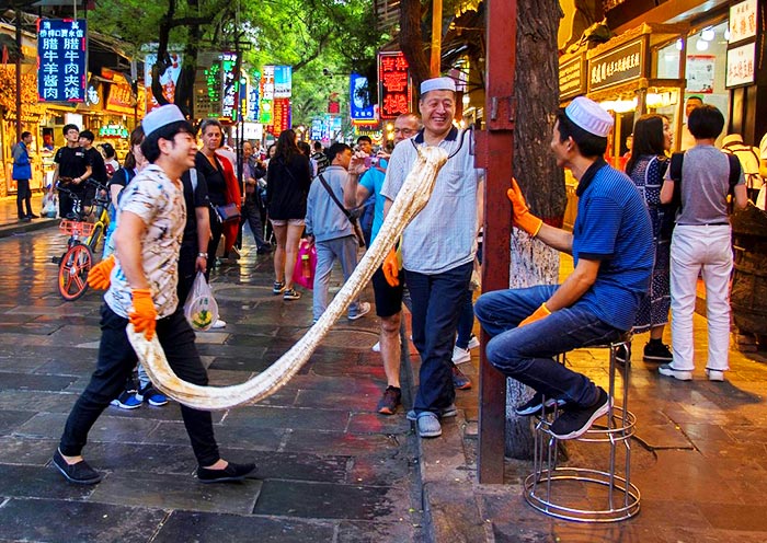
[[[285,130],[279,135],[266,173],[266,206],[277,245],[272,292],[275,296],[282,293],[284,300],[301,297],[293,288],[293,270],[304,233],[310,185],[309,159],[296,146],[296,132]]]

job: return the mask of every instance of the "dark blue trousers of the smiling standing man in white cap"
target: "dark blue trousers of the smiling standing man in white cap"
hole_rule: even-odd
[[[453,342],[472,268],[470,262],[436,275],[405,269],[413,300],[413,344],[421,355],[419,392],[413,404],[416,413],[437,413],[456,400]]]

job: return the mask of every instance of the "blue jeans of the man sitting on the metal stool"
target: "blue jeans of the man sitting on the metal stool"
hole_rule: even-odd
[[[553,359],[556,355],[589,345],[604,345],[621,331],[604,323],[579,303],[517,327],[559,287],[496,290],[482,294],[474,314],[492,336],[485,347],[488,361],[507,377],[543,393],[582,407],[594,405],[594,382]]]

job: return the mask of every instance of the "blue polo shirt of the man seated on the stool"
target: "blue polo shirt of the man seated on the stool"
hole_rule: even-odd
[[[602,159],[581,178],[577,196],[573,263],[602,263],[596,281],[577,304],[618,330],[631,330],[652,277],[648,208],[631,180]]]

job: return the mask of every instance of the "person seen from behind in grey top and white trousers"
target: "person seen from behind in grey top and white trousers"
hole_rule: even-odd
[[[692,313],[698,275],[701,275],[706,284],[709,332],[706,374],[710,381],[724,381],[724,371],[730,369],[729,281],[732,272],[728,194],[732,193],[735,207],[743,209],[747,203],[746,186],[737,159],[714,147],[724,127],[722,113],[712,105],[701,105],[690,112],[688,126],[696,145],[684,154],[672,157],[661,188],[661,203],[671,204],[676,192],[682,207],[671,247],[674,359],[661,366],[659,372],[679,381],[692,379]],[[684,157],[680,164],[679,157]]]

